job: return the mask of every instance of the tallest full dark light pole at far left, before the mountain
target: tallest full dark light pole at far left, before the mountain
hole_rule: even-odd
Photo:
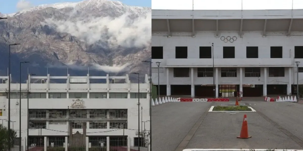
[[[8,121],[11,121],[11,46],[20,45],[20,43],[9,44],[8,50]],[[11,136],[11,122],[8,122],[8,136]],[[8,151],[11,151],[10,138],[8,139]]]

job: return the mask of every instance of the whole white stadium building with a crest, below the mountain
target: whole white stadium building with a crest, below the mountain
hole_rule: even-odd
[[[0,122],[2,123],[0,124],[7,127],[8,76],[2,76],[0,79],[2,79],[0,83]],[[64,79],[67,82],[54,83],[56,79]],[[95,79],[104,79],[106,83],[93,83]],[[37,80],[40,83],[31,82]],[[48,74],[29,76],[28,81],[21,84],[21,137],[27,137],[27,124],[29,124],[29,146],[42,145],[44,137],[48,138],[49,146],[52,143],[55,146],[63,146],[65,137],[76,132],[89,137],[92,146],[100,146],[100,141],[106,143],[108,136],[111,142],[120,140],[121,142],[118,142],[120,145],[126,144],[127,137],[131,138],[132,145],[136,146],[138,145],[138,97],[140,97],[140,131],[149,130],[150,88],[147,75],[145,75],[145,83],[139,84],[139,95],[138,83],[131,83],[128,75],[50,76]],[[20,111],[19,85],[19,83],[11,83],[10,99],[11,129],[17,132],[17,137],[19,137]],[[27,98],[28,90],[29,98]],[[16,145],[18,138],[15,141]]]

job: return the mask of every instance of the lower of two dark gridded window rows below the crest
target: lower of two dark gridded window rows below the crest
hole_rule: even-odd
[[[83,122],[86,121],[73,121],[70,124],[72,128],[81,129],[83,128]],[[66,121],[49,121],[49,125],[63,125]],[[46,128],[46,121],[29,121],[30,129]],[[89,121],[89,129],[107,129],[107,121]],[[127,120],[122,121],[110,121],[110,129],[127,129]]]

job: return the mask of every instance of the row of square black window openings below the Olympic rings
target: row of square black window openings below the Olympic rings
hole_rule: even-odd
[[[258,47],[246,47],[246,58],[258,58]],[[199,58],[212,58],[212,47],[199,47]],[[175,47],[175,58],[186,59],[188,47]],[[235,58],[235,47],[223,47],[223,58]],[[270,58],[283,58],[282,47],[270,47]],[[303,46],[295,46],[295,58],[303,58]],[[151,59],[163,59],[163,47],[151,47]]]

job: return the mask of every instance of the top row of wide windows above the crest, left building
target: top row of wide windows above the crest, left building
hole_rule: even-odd
[[[5,93],[1,93],[1,96],[5,96]],[[68,97],[87,98],[87,93],[68,93]],[[139,97],[147,98],[147,93],[130,93],[130,98]],[[20,98],[20,92],[11,92],[11,98]],[[27,98],[26,92],[22,92],[22,98]],[[30,93],[29,98],[46,98],[46,93]],[[48,98],[67,98],[67,93],[49,93]],[[89,98],[107,98],[107,93],[89,93]],[[109,93],[109,98],[127,98],[127,93]]]

